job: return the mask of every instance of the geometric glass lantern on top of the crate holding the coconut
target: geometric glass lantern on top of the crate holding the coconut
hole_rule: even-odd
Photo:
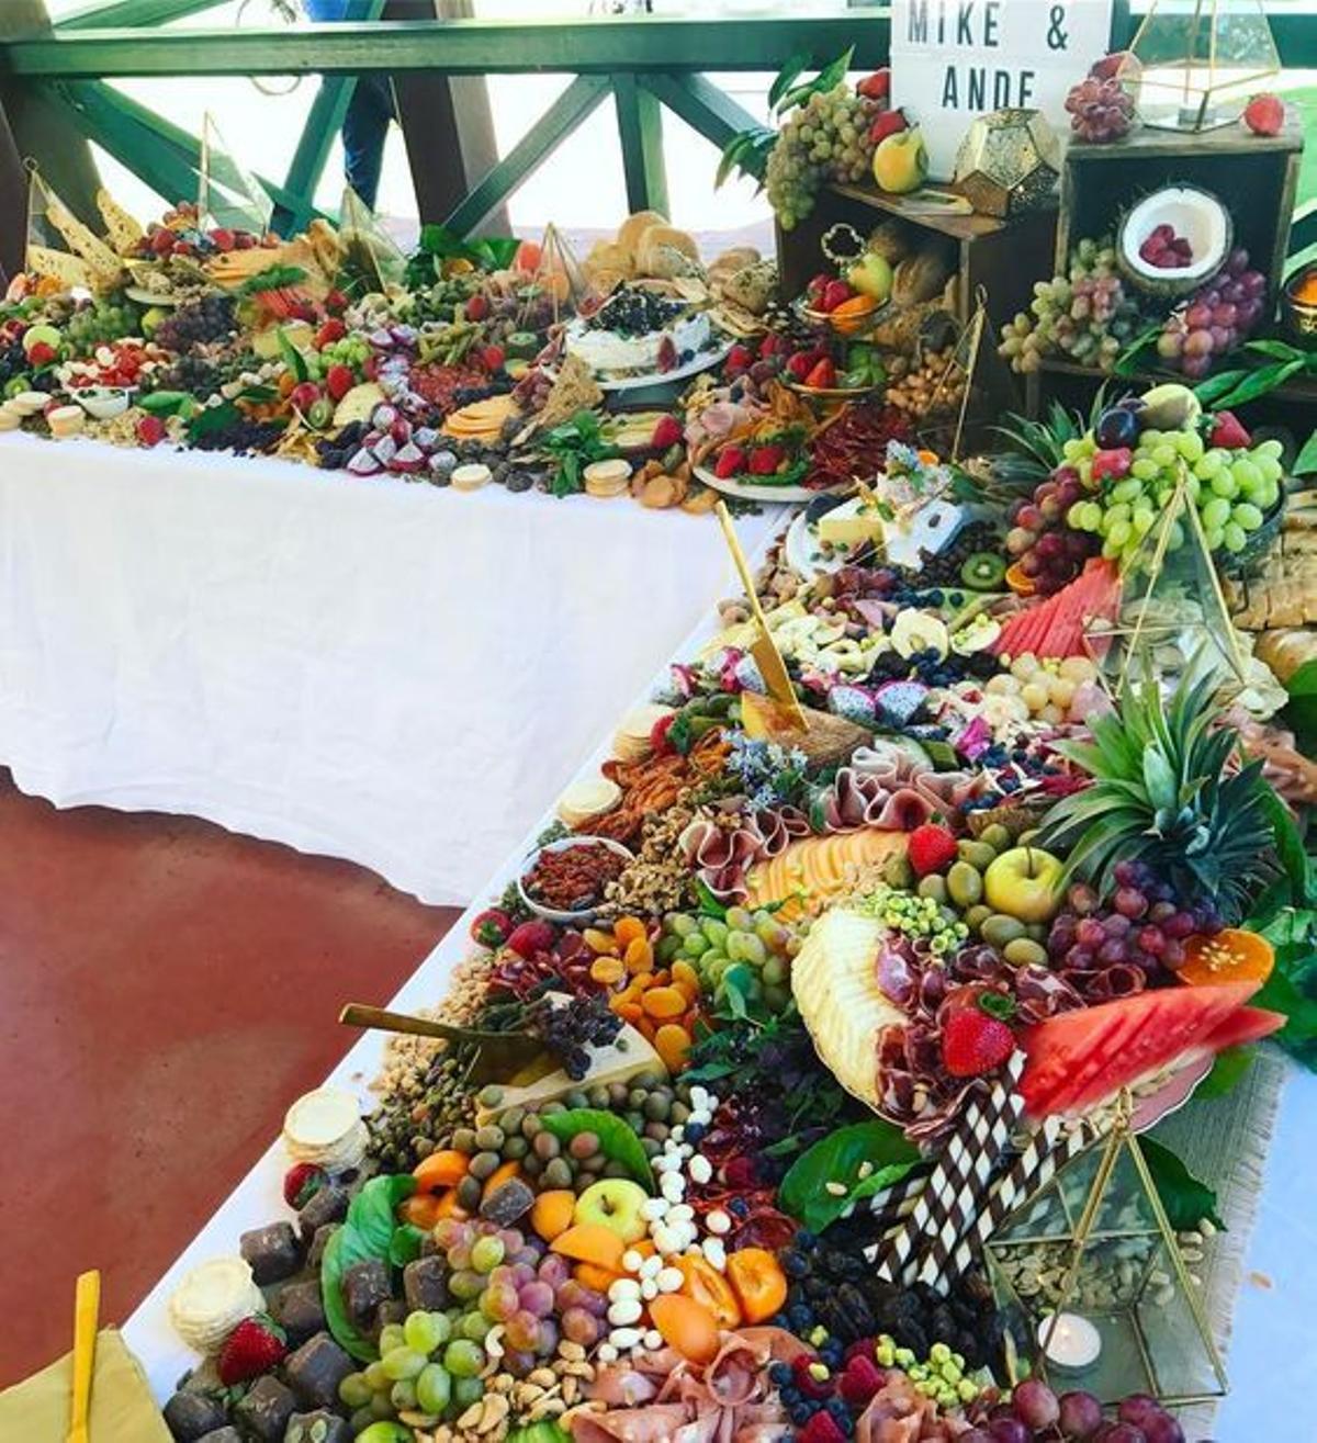
[[[1153,0],[1116,76],[1145,126],[1200,131],[1239,120],[1279,68],[1261,0]]]

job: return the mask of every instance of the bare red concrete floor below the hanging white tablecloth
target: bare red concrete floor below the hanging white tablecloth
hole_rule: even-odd
[[[0,1385],[121,1322],[452,925],[209,823],[56,811],[0,769]]]

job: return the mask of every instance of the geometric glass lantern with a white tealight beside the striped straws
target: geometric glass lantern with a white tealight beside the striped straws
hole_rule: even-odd
[[[984,1247],[1014,1385],[1040,1377],[1102,1403],[1223,1397],[1226,1374],[1122,1102]]]

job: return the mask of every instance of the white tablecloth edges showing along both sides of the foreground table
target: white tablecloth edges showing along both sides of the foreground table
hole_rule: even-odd
[[[687,636],[685,645],[671,655],[691,657],[714,631],[714,616],[707,615]],[[665,672],[666,662],[652,681]],[[643,696],[645,688],[638,688],[623,707]],[[612,722],[606,727],[607,736]],[[607,755],[604,740],[578,775],[594,773]],[[447,993],[453,968],[470,945],[470,919],[512,879],[522,851],[547,820],[541,818],[531,827],[524,846],[514,848],[475,893],[466,913],[402,986],[391,1007],[414,1012],[433,1006]],[[371,1107],[369,1082],[379,1072],[382,1055],[382,1036],[365,1033],[327,1081],[356,1091],[364,1107]],[[271,1110],[281,1110],[291,1101],[280,1098]],[[1294,1439],[1297,1443],[1300,1437],[1311,1436],[1311,1430],[1304,1431],[1305,1421],[1295,1431],[1294,1410],[1307,1407],[1307,1390],[1317,1372],[1317,1328],[1313,1325],[1317,1307],[1317,1221],[1313,1212],[1317,1149],[1308,1137],[1314,1115],[1317,1076],[1290,1065],[1226,1356],[1232,1391],[1216,1417],[1212,1434],[1216,1443],[1262,1443],[1264,1439]],[[124,1325],[128,1346],[141,1361],[162,1404],[173,1392],[179,1377],[196,1364],[169,1323],[166,1309],[170,1296],[189,1268],[206,1258],[237,1253],[239,1234],[287,1216],[281,1192],[287,1166],[287,1154],[276,1141]]]

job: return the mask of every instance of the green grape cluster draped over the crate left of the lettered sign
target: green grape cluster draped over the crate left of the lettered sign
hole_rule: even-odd
[[[814,209],[814,196],[827,180],[863,180],[873,162],[868,139],[880,100],[857,95],[841,84],[815,91],[793,110],[769,152],[765,183],[783,231],[792,229]]]

